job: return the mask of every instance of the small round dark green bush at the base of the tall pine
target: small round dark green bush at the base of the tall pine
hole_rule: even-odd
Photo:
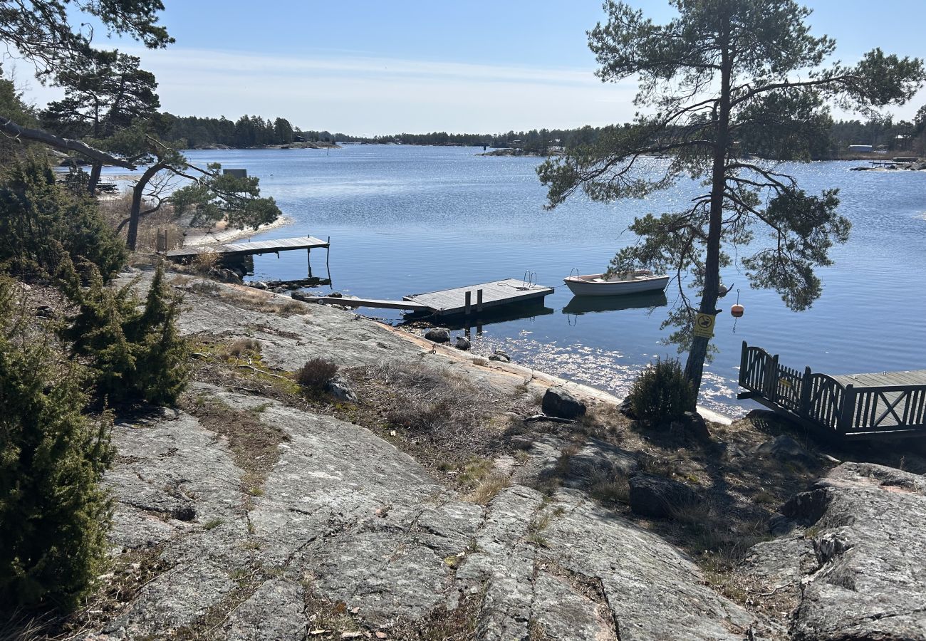
[[[681,420],[685,411],[694,409],[696,399],[677,358],[657,358],[647,365],[627,396],[633,415],[654,425]]]

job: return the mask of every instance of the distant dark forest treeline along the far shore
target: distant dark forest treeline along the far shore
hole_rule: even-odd
[[[546,153],[551,149],[591,145],[597,142],[606,127],[586,125],[579,129],[532,129],[527,132],[501,133],[395,133],[382,136],[354,136],[347,133],[302,130],[284,118],[263,119],[242,116],[237,120],[222,118],[179,117],[163,114],[162,128],[168,140],[187,147],[226,145],[256,147],[287,145],[294,141],[327,143],[367,143],[372,145],[465,145],[486,147],[517,146],[525,151]],[[618,125],[627,127],[629,125]],[[840,157],[849,145],[872,145],[886,151],[926,152],[926,109],[914,122],[893,119],[838,120],[832,123],[829,139],[821,138],[814,145],[816,159]],[[744,141],[745,143],[745,141]],[[751,141],[745,152],[766,156],[761,140]]]

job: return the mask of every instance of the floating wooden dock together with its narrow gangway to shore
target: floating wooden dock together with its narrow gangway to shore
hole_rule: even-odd
[[[319,296],[316,302],[333,303],[351,308],[407,309],[416,312],[430,312],[435,316],[469,316],[482,314],[489,310],[495,311],[505,306],[542,302],[545,296],[553,292],[553,287],[509,278],[504,281],[455,287],[427,294],[410,294],[403,296],[402,300]]]

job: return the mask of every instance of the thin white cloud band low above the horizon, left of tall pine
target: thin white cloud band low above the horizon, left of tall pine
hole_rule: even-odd
[[[593,69],[544,69],[318,54],[281,57],[173,47],[132,51],[181,115],[282,116],[355,134],[501,132],[630,119],[635,86]]]

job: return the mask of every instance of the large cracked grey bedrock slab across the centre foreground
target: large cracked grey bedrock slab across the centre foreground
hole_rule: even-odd
[[[119,424],[113,544],[152,550],[166,570],[87,638],[205,627],[301,639],[319,598],[386,633],[475,599],[473,638],[499,640],[742,639],[754,622],[690,559],[581,491],[551,499],[512,484],[487,506],[470,503],[365,428],[209,385],[194,392],[259,405],[289,440],[250,496],[224,439],[193,416]],[[181,508],[194,517],[176,519]]]

